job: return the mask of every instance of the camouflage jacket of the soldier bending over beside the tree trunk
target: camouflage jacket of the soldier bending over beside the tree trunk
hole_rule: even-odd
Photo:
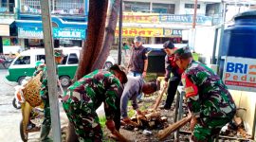
[[[118,98],[118,90],[120,87],[119,79],[111,72],[105,70],[96,70],[81,80],[76,81],[68,87],[70,92],[75,91],[80,94],[86,94],[93,102],[94,108],[99,108],[104,102],[104,110],[107,119],[112,119],[115,115],[117,107],[115,100]],[[83,101],[86,101],[85,98]]]

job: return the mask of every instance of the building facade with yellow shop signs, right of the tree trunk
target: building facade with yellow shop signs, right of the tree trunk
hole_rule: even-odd
[[[196,26],[218,24],[221,0],[198,1],[196,8]],[[167,40],[187,44],[193,11],[192,0],[124,0],[122,41],[132,43],[134,36],[140,35],[144,37],[144,44],[162,44]],[[118,34],[117,28],[116,43]]]

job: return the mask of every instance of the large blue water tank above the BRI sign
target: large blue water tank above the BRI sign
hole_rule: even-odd
[[[234,21],[224,30],[220,56],[256,59],[256,10],[240,13]]]

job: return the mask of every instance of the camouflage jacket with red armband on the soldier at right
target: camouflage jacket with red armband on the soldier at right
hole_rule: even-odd
[[[236,106],[224,82],[206,65],[191,62],[182,75],[188,107],[197,117],[227,117]]]

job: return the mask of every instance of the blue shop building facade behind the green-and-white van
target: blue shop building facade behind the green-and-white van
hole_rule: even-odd
[[[54,46],[82,46],[89,0],[52,0]],[[44,47],[40,0],[0,1],[0,53]]]

